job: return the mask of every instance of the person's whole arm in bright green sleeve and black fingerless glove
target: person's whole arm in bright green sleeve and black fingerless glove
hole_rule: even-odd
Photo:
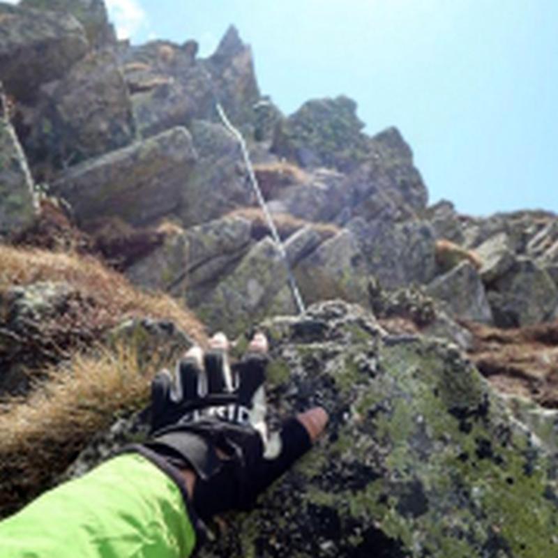
[[[265,340],[264,349],[266,343]],[[250,349],[265,352],[257,347],[252,342]],[[226,363],[226,348],[214,343],[213,349],[223,349],[219,360],[221,365]],[[182,361],[178,376],[186,379],[185,386],[188,377],[184,372],[201,373],[202,358],[201,349],[195,347]],[[220,375],[223,370],[213,372]],[[239,370],[241,374],[254,372],[259,374],[262,370],[254,369],[253,363],[252,368]],[[203,521],[225,508],[249,503],[256,492],[264,490],[315,442],[326,425],[324,409],[318,407],[299,414],[296,421],[290,421],[288,432],[284,431],[283,448],[277,455],[280,459],[264,457],[265,444],[252,423],[229,423],[215,418],[211,398],[200,402],[197,395],[195,404],[202,414],[202,422],[186,420],[191,414],[190,397],[198,390],[188,391],[181,386],[179,391],[174,391],[165,375],[159,380],[163,384],[153,384],[158,386],[153,395],[156,407],[153,421],[158,423],[154,430],[162,430],[154,431],[151,443],[129,448],[130,453],[112,458],[82,478],[46,492],[20,513],[0,522],[2,558],[186,558],[199,544],[197,534],[204,530]],[[241,386],[243,382],[236,384]],[[261,385],[252,387],[258,386]],[[229,393],[229,397],[236,398],[236,395]],[[255,402],[243,402],[248,407],[252,404]],[[261,404],[258,400],[257,405]],[[263,418],[256,415],[258,421]],[[245,462],[249,458],[249,469],[236,458],[227,458],[219,445],[213,446],[210,442],[214,438],[213,428],[220,432],[225,451],[229,448],[228,430],[236,437],[239,447],[249,444],[242,450],[248,453],[241,459]],[[292,434],[287,435],[289,432]],[[189,442],[184,444],[181,438]],[[200,448],[220,462],[209,475],[204,471],[206,456],[204,451],[200,453]],[[202,478],[194,472],[196,465]],[[232,469],[233,466],[236,468]],[[246,478],[246,485],[237,483],[239,466],[243,468],[241,476]],[[229,495],[228,500],[224,498],[225,493]],[[240,495],[243,495],[241,499]]]

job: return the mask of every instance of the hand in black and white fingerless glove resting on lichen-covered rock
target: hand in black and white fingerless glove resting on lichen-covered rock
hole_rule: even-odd
[[[199,347],[190,349],[175,378],[164,370],[153,380],[152,434],[140,449],[175,480],[176,469],[195,472],[188,505],[204,521],[250,508],[259,492],[310,449],[327,422],[317,407],[268,435],[266,338],[256,335],[248,354],[232,366],[223,334],[213,338],[212,347],[205,355]]]

